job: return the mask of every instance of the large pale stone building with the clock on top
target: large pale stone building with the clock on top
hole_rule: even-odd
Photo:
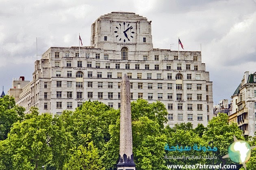
[[[151,21],[112,12],[91,25],[91,46],[51,47],[35,62],[33,80],[17,104],[27,111],[61,114],[87,100],[120,106],[121,77],[130,79],[131,100],[163,102],[168,124],[207,124],[213,117],[213,92],[200,51],[154,49]]]

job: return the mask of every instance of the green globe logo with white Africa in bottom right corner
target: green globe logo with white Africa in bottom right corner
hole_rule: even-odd
[[[250,159],[251,149],[256,146],[250,147],[249,143],[244,140],[237,140],[234,136],[234,142],[228,148],[228,155],[223,156],[222,158],[229,157],[233,162],[243,164],[243,167],[246,170],[245,162]]]

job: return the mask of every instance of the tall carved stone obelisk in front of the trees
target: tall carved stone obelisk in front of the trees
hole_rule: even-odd
[[[130,81],[126,74],[121,80],[120,147],[117,170],[135,170],[132,154],[132,115]]]

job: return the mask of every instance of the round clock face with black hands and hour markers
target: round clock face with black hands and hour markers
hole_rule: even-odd
[[[121,41],[121,42],[129,42],[133,36],[134,36],[134,31],[133,31],[133,27],[130,23],[119,23],[116,27],[115,27],[115,37],[117,37],[117,40]]]

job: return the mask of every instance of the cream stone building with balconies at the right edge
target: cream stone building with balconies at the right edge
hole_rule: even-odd
[[[245,136],[254,136],[256,130],[256,72],[245,72],[232,98],[230,122],[237,123]]]

